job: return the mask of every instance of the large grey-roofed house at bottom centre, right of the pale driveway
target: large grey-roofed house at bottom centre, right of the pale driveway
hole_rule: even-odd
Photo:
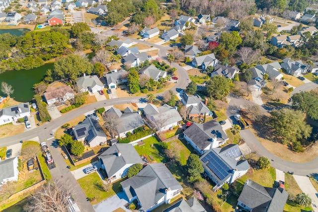
[[[146,212],[168,204],[183,189],[163,163],[151,163],[120,184],[129,202],[137,200]]]

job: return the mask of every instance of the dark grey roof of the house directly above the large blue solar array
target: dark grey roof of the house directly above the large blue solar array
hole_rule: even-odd
[[[219,122],[211,120],[203,124],[193,123],[183,132],[201,150],[205,149],[212,139],[225,141],[229,139]]]

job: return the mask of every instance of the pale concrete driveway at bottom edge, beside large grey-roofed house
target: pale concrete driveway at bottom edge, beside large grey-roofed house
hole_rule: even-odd
[[[97,205],[94,205],[93,207],[95,212],[112,212],[118,208],[123,209],[125,212],[131,212],[125,207],[125,204],[128,203],[126,198],[127,197],[124,192],[119,192],[118,194],[104,200]]]

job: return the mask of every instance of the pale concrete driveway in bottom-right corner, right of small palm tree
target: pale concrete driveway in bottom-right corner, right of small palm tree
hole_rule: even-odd
[[[309,177],[307,176],[299,176],[299,175],[293,175],[297,184],[301,188],[301,190],[309,195],[309,197],[312,199],[312,208],[314,212],[318,212],[318,198],[317,198],[317,191],[314,188],[312,182],[310,181]]]

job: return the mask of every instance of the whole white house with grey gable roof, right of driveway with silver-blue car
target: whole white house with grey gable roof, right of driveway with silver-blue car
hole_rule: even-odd
[[[144,163],[130,143],[115,143],[99,155],[98,159],[111,183],[125,177],[132,165]]]

